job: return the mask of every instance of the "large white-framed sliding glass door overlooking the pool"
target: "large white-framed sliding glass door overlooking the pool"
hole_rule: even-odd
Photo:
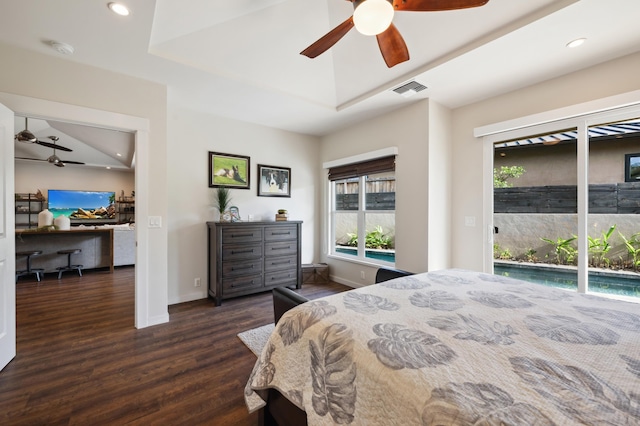
[[[488,269],[640,298],[638,106],[487,136],[487,163]]]

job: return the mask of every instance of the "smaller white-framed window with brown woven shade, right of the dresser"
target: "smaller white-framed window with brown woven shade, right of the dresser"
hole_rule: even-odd
[[[395,265],[395,156],[332,167],[329,180],[330,254]]]

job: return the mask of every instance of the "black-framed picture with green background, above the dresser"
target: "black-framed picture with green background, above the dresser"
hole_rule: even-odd
[[[209,151],[209,188],[249,189],[249,157]]]

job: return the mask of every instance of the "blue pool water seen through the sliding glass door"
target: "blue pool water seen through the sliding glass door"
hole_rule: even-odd
[[[508,265],[494,263],[494,274],[524,281],[578,289],[577,271],[537,268],[530,265]],[[640,297],[640,275],[589,272],[589,290],[594,293],[618,294]]]

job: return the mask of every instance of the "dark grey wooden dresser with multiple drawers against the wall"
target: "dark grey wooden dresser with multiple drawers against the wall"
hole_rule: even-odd
[[[302,285],[301,221],[207,222],[209,296],[222,299]]]

